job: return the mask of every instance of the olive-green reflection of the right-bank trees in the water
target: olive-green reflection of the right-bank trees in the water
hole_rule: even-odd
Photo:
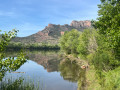
[[[78,90],[86,89],[86,70],[81,69],[75,61],[69,59],[61,61],[59,71],[64,80],[78,83]]]

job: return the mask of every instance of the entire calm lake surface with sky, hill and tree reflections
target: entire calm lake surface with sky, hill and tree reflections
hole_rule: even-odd
[[[4,78],[30,78],[39,82],[42,90],[77,90],[82,80],[84,90],[84,71],[75,62],[64,60],[59,51],[29,51],[29,60],[15,72],[7,73]],[[17,52],[8,52],[8,56],[17,56]]]

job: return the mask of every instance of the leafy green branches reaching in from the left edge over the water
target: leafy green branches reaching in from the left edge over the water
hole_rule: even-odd
[[[7,71],[17,70],[24,62],[26,62],[25,54],[20,52],[20,55],[17,58],[14,57],[5,57],[5,50],[8,45],[8,42],[16,36],[17,30],[13,29],[8,33],[1,35],[0,39],[0,80],[4,77]]]

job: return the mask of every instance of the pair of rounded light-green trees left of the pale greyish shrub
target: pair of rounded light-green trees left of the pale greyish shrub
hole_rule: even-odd
[[[64,50],[66,54],[74,54],[75,56],[86,58],[86,56],[90,52],[94,52],[94,49],[97,47],[96,41],[94,40],[94,33],[96,33],[94,29],[84,30],[84,32],[73,29],[70,32],[66,32],[61,37],[61,49]],[[92,43],[90,41],[92,41]],[[89,44],[92,44],[91,47],[89,47]]]

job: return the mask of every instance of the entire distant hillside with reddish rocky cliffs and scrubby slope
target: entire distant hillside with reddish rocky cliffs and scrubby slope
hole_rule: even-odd
[[[65,31],[71,31],[72,29],[77,29],[83,31],[86,28],[91,27],[91,21],[72,21],[70,25],[55,25],[48,24],[42,31],[32,34],[27,37],[16,37],[13,42],[21,43],[50,43],[57,44],[58,39]]]

